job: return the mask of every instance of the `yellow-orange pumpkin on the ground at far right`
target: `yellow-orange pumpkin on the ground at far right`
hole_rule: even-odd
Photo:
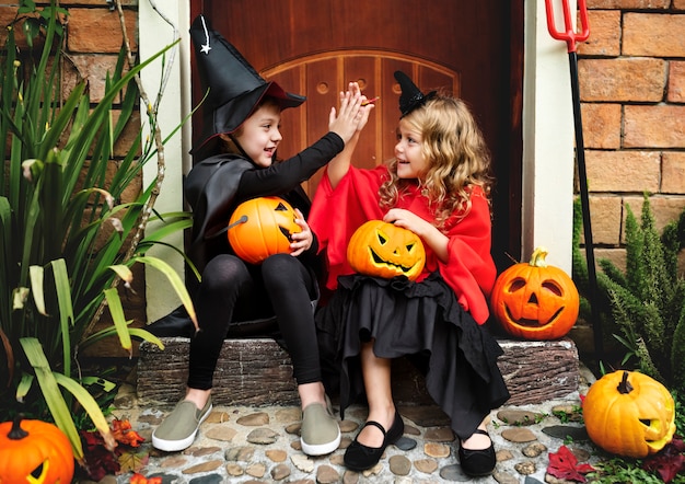
[[[675,404],[666,388],[637,371],[595,381],[583,401],[590,439],[607,452],[636,459],[657,453],[675,434]]]

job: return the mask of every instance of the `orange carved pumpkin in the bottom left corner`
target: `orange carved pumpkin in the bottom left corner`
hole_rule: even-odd
[[[23,420],[0,424],[0,483],[69,484],[73,452],[53,424]]]

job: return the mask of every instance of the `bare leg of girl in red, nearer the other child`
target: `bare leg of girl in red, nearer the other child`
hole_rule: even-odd
[[[379,358],[373,353],[373,342],[364,343],[361,348],[361,369],[369,402],[367,420],[378,422],[390,429],[395,419],[395,402],[391,388],[391,362],[387,358]],[[378,427],[368,425],[357,437],[359,443],[368,447],[381,447],[383,434]]]

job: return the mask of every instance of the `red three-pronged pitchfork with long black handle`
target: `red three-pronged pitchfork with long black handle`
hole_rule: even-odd
[[[553,0],[545,0],[547,13],[547,30],[557,41],[566,42],[568,47],[569,65],[571,70],[571,95],[573,101],[573,125],[576,128],[576,161],[578,162],[578,181],[580,186],[580,201],[583,216],[583,235],[585,239],[585,260],[588,262],[588,299],[592,310],[592,330],[594,335],[594,353],[599,361],[603,357],[602,324],[596,300],[597,276],[594,265],[594,246],[592,242],[592,226],[590,222],[590,197],[588,195],[588,173],[585,170],[585,148],[583,145],[583,123],[580,115],[580,88],[578,83],[578,54],[577,43],[584,42],[590,36],[588,23],[588,7],[585,0],[578,0],[578,16],[581,32],[577,33],[574,14],[569,7],[569,0],[561,0],[564,9],[564,32],[557,30],[554,19]]]

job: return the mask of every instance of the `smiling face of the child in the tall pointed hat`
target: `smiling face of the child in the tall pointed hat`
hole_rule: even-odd
[[[280,108],[272,103],[263,104],[243,123],[236,139],[257,166],[268,168],[274,162],[276,148],[283,139],[279,124]]]

